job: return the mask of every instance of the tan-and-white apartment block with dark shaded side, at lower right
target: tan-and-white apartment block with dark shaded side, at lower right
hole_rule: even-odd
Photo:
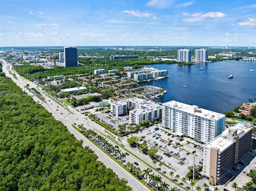
[[[225,173],[250,151],[252,129],[251,124],[236,124],[204,146],[203,173],[215,185],[229,181]]]

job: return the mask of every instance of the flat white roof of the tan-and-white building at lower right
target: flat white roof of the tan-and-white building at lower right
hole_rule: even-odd
[[[224,130],[222,134],[216,137],[214,140],[205,145],[208,148],[220,149],[220,152],[228,148],[233,142],[236,141],[235,137],[242,137],[246,132],[252,129],[251,124],[239,124]]]

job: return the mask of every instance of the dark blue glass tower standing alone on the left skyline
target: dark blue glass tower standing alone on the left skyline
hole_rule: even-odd
[[[78,65],[77,48],[75,46],[64,47],[65,67],[76,67]]]

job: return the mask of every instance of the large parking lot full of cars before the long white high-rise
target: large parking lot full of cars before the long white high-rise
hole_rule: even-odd
[[[193,144],[187,144],[187,138],[184,138],[184,140],[181,141],[179,137],[173,136],[170,132],[162,130],[160,126],[161,124],[157,124],[157,126],[154,125],[150,128],[145,128],[137,133],[130,134],[128,137],[138,136],[138,143],[142,143],[145,140],[148,144],[148,149],[152,146],[158,148],[157,154],[160,156],[159,160],[169,166],[162,166],[162,171],[166,171],[167,174],[169,174],[170,171],[174,171],[175,173],[184,176],[189,171],[188,166],[194,165],[194,157],[195,164],[202,162],[202,150],[199,151],[194,148]],[[156,127],[159,127],[160,129],[154,130]],[[128,137],[123,138],[126,141]],[[188,140],[190,141],[190,139]],[[176,146],[176,144],[179,145]],[[194,155],[192,154],[193,151],[196,151]],[[181,161],[183,164],[180,164]]]

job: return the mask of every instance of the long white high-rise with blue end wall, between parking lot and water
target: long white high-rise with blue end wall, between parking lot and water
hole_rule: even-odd
[[[177,101],[162,104],[162,128],[208,143],[225,129],[225,115]]]

